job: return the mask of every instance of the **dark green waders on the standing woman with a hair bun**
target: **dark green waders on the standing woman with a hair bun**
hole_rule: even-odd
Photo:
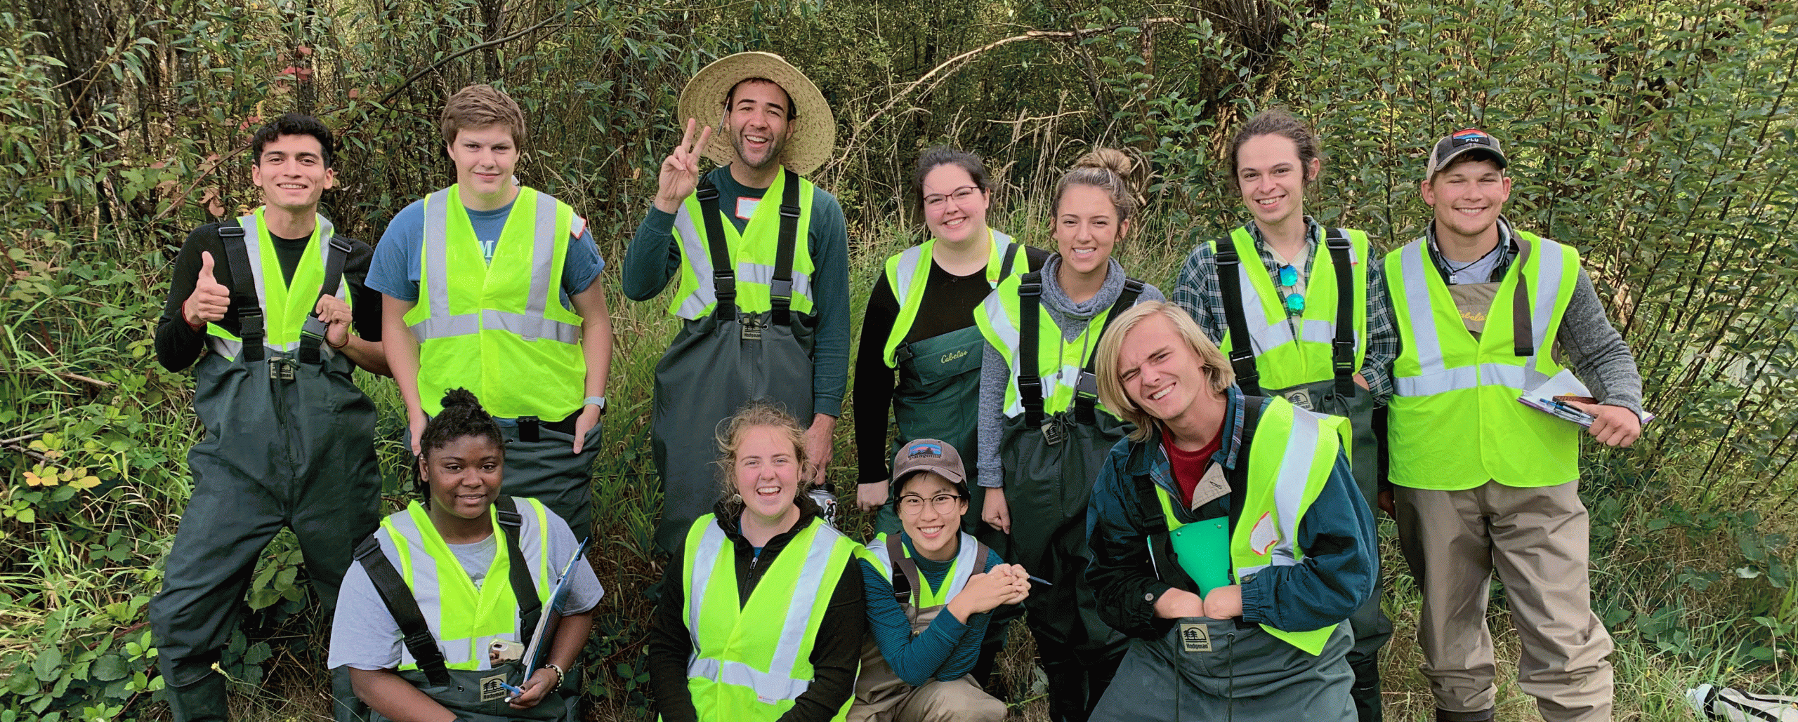
[[[1117,313],[1136,304],[1144,284],[1124,282],[1124,293],[1093,338],[1099,347]],[[1124,636],[1099,618],[1099,598],[1086,584],[1086,503],[1093,480],[1111,445],[1131,426],[1097,408],[1099,384],[1088,356],[1077,393],[1066,409],[1043,408],[1041,352],[1037,334],[1046,320],[1041,311],[1039,273],[1023,277],[1019,296],[1018,397],[1023,413],[1005,420],[1000,463],[1005,469],[1005,506],[1010,514],[1010,557],[1050,586],[1036,586],[1025,600],[1025,616],[1050,684],[1050,717],[1084,720],[1111,682]],[[1055,329],[1050,323],[1050,329]],[[1059,330],[1057,330],[1059,332]]]

